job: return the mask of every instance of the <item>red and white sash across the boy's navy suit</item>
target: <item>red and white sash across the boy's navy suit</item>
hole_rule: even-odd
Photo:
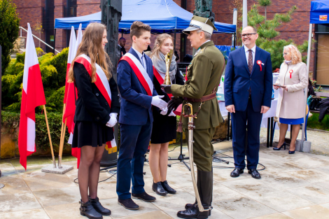
[[[132,67],[132,70],[136,74],[139,82],[144,87],[146,92],[148,93],[148,96],[152,96],[153,93],[153,80],[148,76],[148,73],[144,69],[144,67],[141,65],[141,62],[139,62],[139,59],[137,59],[132,53],[127,52],[121,59],[125,60],[130,64]],[[119,61],[119,62],[120,62]]]

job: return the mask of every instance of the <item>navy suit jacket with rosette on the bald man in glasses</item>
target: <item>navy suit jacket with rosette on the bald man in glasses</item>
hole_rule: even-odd
[[[257,61],[262,62],[262,71]],[[261,106],[271,107],[272,62],[269,52],[256,46],[255,60],[251,74],[248,70],[244,47],[230,52],[225,70],[225,106],[235,105],[236,111],[246,111],[249,89],[253,111],[260,112]]]

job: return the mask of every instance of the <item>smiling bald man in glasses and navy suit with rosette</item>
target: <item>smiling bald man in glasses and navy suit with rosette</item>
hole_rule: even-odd
[[[262,114],[271,107],[272,62],[269,52],[258,48],[254,27],[244,27],[241,32],[244,46],[230,52],[225,70],[225,106],[232,113],[232,140],[235,169],[231,176],[244,172],[247,157],[248,174],[260,178],[257,171],[260,147]],[[245,151],[246,129],[248,143]]]

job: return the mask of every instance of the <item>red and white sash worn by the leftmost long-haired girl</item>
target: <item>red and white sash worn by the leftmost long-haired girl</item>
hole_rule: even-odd
[[[80,64],[83,64],[85,66],[85,69],[89,73],[90,77],[92,76],[92,65],[90,57],[87,57],[87,55],[79,55],[74,62],[78,62]],[[111,88],[109,84],[109,80],[107,80],[106,75],[97,63],[95,63],[96,66],[96,81],[94,84],[97,86],[98,90],[102,93],[103,97],[106,99],[107,103],[111,107]],[[106,142],[107,148],[114,148],[116,147],[116,139],[113,139],[112,141]]]

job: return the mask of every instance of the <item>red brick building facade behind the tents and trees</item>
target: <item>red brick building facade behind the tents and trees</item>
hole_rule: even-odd
[[[125,0],[127,1],[127,0]],[[182,8],[193,13],[195,8],[195,0],[173,0]],[[242,0],[241,0],[242,1]],[[97,13],[100,11],[100,0],[13,0],[17,5],[17,11],[21,18],[20,26],[27,28],[27,22],[32,26],[32,33],[38,36],[38,32],[34,31],[33,27],[37,23],[43,24],[43,32],[41,33],[41,39],[50,45],[54,45],[57,50],[62,50],[69,45],[70,30],[56,30],[56,38],[54,36],[54,21],[59,17],[75,17],[89,15],[91,13]],[[232,8],[234,8],[233,0],[218,0],[213,1],[213,11],[216,15],[216,21],[224,23],[232,23],[233,15]],[[248,0],[248,10],[257,0]],[[280,36],[277,38],[290,39],[298,45],[302,44],[308,39],[309,31],[309,10],[311,0],[278,0],[272,1],[272,5],[267,7],[267,17],[271,19],[276,13],[286,13],[292,6],[297,6],[297,10],[293,13],[291,22],[283,23],[278,30]],[[260,13],[264,14],[264,8],[260,7]],[[239,12],[238,12],[239,13]],[[121,34],[120,34],[121,35]],[[22,36],[26,36],[23,31]],[[123,37],[127,39],[126,49],[131,47],[131,40],[129,35],[123,34]],[[152,37],[152,39],[155,36]],[[232,45],[231,34],[214,34],[212,40],[216,45]],[[183,41],[186,38],[181,37],[181,34],[176,34],[176,50],[180,50],[181,54],[191,54],[192,48],[190,43],[186,42],[186,48],[183,46]],[[38,46],[38,41],[36,41]],[[241,42],[238,42],[241,45]],[[152,44],[153,45],[153,42]],[[51,52],[50,48],[45,48],[45,45],[41,45],[41,48],[46,52]],[[314,48],[314,47],[312,47]],[[185,51],[183,51],[185,50]],[[314,51],[312,50],[311,67],[314,66]]]

